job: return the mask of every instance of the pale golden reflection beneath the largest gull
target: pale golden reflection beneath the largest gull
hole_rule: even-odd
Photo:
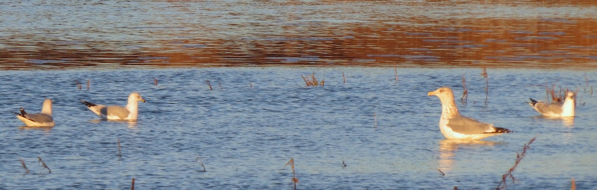
[[[439,141],[439,170],[442,173],[450,172],[455,163],[454,156],[458,148],[476,149],[499,144],[491,141],[459,141],[443,139]]]

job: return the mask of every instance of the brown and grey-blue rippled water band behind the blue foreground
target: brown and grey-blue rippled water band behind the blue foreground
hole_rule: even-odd
[[[3,3],[0,67],[597,68],[597,3]],[[36,11],[26,8],[34,7]],[[67,11],[64,11],[67,10]]]

